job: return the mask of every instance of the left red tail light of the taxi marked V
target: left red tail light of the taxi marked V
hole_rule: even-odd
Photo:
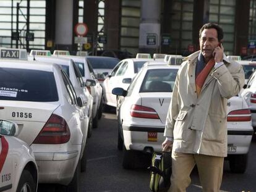
[[[137,118],[160,119],[155,109],[139,105],[132,105],[130,115]]]

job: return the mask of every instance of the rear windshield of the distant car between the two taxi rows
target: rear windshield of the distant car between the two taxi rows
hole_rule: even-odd
[[[93,69],[114,69],[119,62],[116,58],[87,57]]]

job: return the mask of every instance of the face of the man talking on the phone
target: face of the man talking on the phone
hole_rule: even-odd
[[[204,29],[201,34],[200,50],[205,59],[213,57],[213,51],[218,46],[218,33],[215,28]]]

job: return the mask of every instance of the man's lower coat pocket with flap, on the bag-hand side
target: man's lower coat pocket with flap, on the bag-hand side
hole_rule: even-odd
[[[174,140],[186,140],[186,116],[187,111],[179,111],[173,130]]]

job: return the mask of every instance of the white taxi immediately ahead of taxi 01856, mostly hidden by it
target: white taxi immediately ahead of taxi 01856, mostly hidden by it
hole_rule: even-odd
[[[84,126],[83,126],[83,148],[85,147],[85,143],[88,138],[92,135],[92,107],[93,107],[93,98],[92,95],[87,90],[85,83],[83,83],[82,75],[77,68],[77,65],[74,64],[72,59],[64,59],[60,57],[45,57],[41,56],[42,53],[45,52],[43,50],[32,50],[30,52],[30,56],[28,60],[30,61],[40,61],[40,62],[49,62],[58,64],[61,68],[67,73],[72,85],[74,86],[75,93],[82,99],[83,102],[83,112],[85,114],[84,118]],[[32,56],[33,55],[33,56]],[[39,55],[39,56],[38,56]],[[91,83],[89,80],[86,82],[87,84]],[[95,81],[93,81],[95,84]],[[93,85],[94,85],[93,84]]]

